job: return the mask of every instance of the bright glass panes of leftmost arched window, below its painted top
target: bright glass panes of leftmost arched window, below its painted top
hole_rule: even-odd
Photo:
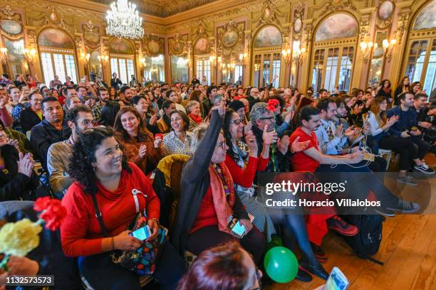
[[[44,74],[44,82],[48,85],[55,75],[61,82],[65,82],[66,76],[77,83],[76,63],[74,55],[63,53],[41,53],[41,64]]]

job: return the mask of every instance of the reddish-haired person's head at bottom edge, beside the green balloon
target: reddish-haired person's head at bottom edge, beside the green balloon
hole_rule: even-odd
[[[258,290],[262,272],[237,242],[207,249],[199,254],[177,290]]]

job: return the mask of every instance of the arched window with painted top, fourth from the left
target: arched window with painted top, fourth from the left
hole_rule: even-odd
[[[253,85],[279,87],[281,70],[281,32],[276,26],[265,26],[254,36]],[[276,78],[274,78],[276,76]]]

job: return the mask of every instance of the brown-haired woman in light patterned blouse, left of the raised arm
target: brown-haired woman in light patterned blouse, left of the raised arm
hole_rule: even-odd
[[[165,155],[191,155],[192,132],[188,131],[190,120],[182,111],[173,111],[170,115],[171,131],[164,136]]]

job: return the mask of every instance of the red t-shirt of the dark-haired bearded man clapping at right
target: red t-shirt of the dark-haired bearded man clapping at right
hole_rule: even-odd
[[[316,150],[319,150],[318,140],[316,139],[316,135],[313,133],[313,131],[311,132],[311,135],[308,135],[301,129],[301,127],[298,127],[289,138],[289,148],[291,148],[291,144],[295,141],[296,137],[300,137],[300,142],[310,140],[307,149],[314,147]],[[319,162],[306,155],[304,151],[294,154],[291,159],[291,164],[294,171],[315,172],[316,168],[319,166]]]

